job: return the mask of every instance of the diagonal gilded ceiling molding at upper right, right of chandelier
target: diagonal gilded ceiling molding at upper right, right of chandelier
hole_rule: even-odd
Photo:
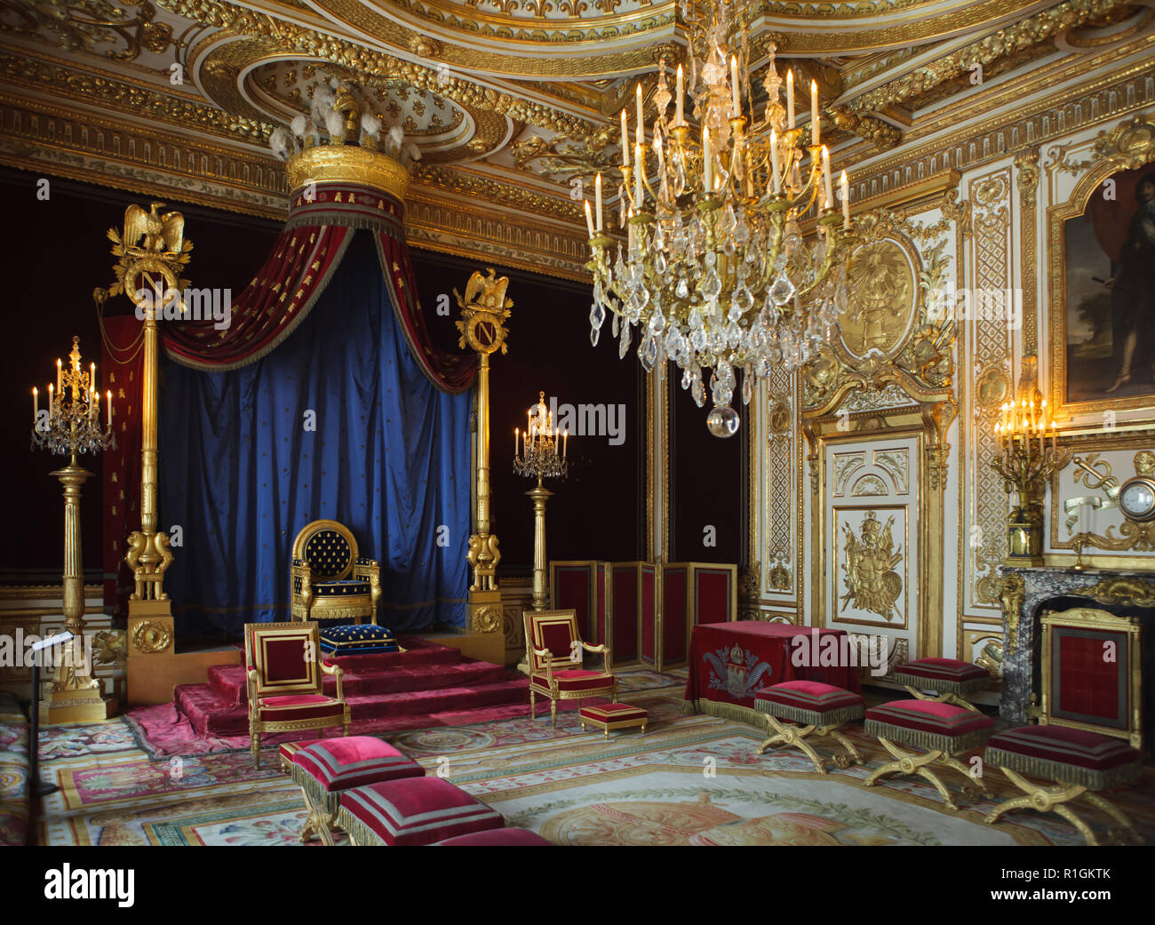
[[[855,112],[870,112],[918,97],[939,84],[969,72],[975,64],[989,66],[1008,55],[1049,42],[1061,32],[1089,20],[1131,6],[1127,0],[1066,0],[994,35],[973,42],[910,74],[855,97],[847,105]]]

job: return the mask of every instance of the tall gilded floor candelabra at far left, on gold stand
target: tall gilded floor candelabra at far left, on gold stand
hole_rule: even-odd
[[[40,408],[39,391],[32,389],[32,445],[69,457],[68,465],[52,475],[60,479],[65,494],[65,629],[73,634],[70,652],[57,665],[52,696],[42,719],[72,723],[106,719],[116,707],[105,701],[100,682],[91,674],[84,650],[84,567],[81,561],[80,495],[92,476],[76,462],[79,453],[99,453],[113,442],[112,393],[105,401],[106,424],[100,426],[100,394],[96,388],[96,364],[84,368],[80,337],[73,337],[68,366],[57,360],[57,381],[47,388],[47,408]],[[111,707],[111,714],[110,714]]]

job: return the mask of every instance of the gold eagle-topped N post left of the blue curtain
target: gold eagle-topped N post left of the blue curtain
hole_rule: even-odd
[[[193,243],[185,239],[185,218],[180,212],[157,214],[163,202],[150,203],[149,211],[140,206],[125,210],[124,233],[109,229],[112,254],[119,258],[113,267],[116,282],[110,294],[124,292],[136,306],[136,318],[144,322],[143,383],[141,397],[141,529],[128,535],[125,561],[133,569],[135,588],[128,599],[128,637],[137,624],[149,622],[157,631],[167,631],[171,640],[172,603],[164,591],[164,573],[172,562],[169,535],[158,530],[157,479],[159,449],[159,358],[161,335],[157,314],[166,305],[185,311],[181,293],[188,281],[180,273],[188,263]],[[163,315],[162,315],[163,316]]]

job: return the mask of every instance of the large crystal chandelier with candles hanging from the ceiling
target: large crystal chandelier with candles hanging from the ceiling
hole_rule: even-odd
[[[736,5],[742,9],[742,5]],[[738,430],[730,408],[742,370],[748,403],[772,367],[797,370],[832,336],[847,309],[850,260],[849,188],[840,182],[834,207],[828,150],[820,141],[818,87],[811,83],[810,143],[795,125],[793,72],[783,81],[774,62],[762,77],[762,119],[751,112],[746,24],[724,0],[684,0],[688,75],[679,65],[671,96],[661,62],[649,141],[638,85],[634,142],[621,111],[619,224],[625,249],[605,233],[602,177],[595,209],[586,202],[594,275],[590,341],[596,345],[606,311],[618,353],[625,357],[638,327],[638,356],[647,372],[671,359],[701,408],[703,370],[711,370],[716,437]],[[686,90],[698,128],[685,119]],[[746,105],[744,107],[743,99]],[[675,102],[672,120],[670,103]],[[804,240],[799,217],[817,204],[818,233]]]

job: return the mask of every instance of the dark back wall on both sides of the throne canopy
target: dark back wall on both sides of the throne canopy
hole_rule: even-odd
[[[0,170],[0,195],[9,237],[3,247],[6,350],[0,364],[0,406],[8,426],[0,434],[3,454],[5,522],[0,531],[0,583],[59,581],[62,567],[62,500],[49,472],[62,457],[30,452],[31,388],[54,376],[73,335],[81,338],[84,361],[99,363],[99,330],[92,290],[113,279],[114,259],[105,237],[119,227],[125,208],[147,196],[50,178],[50,197],[36,196],[39,174]],[[260,268],[281,223],[166,200],[185,216],[193,241],[187,275],[198,288],[244,289]],[[457,349],[453,321],[459,318],[452,290],[464,289],[482,264],[426,251],[413,251],[422,306],[433,336]],[[501,540],[499,573],[528,574],[532,565],[532,508],[524,497],[530,483],[512,471],[513,428],[524,427],[526,409],[538,390],[560,403],[614,403],[626,409],[625,440],[571,434],[571,475],[549,506],[551,559],[632,560],[643,554],[644,458],[639,440],[644,388],[633,351],[618,359],[617,342],[589,343],[590,289],[497,267],[511,277],[514,313],[509,353],[493,360],[493,529]],[[438,296],[449,297],[449,314],[437,313]],[[110,314],[132,311],[122,296],[110,300]],[[162,389],[163,389],[162,382]],[[163,453],[163,448],[162,448]],[[83,560],[89,581],[100,576],[100,457],[80,461],[97,478],[89,482],[82,506]]]

